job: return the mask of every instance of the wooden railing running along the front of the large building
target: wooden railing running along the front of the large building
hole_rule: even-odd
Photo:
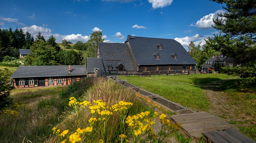
[[[137,75],[137,76],[150,76],[150,75],[176,75],[176,74],[207,74],[207,73],[218,73],[214,69],[195,69],[195,70],[167,70],[167,71],[116,71],[108,70],[111,75]]]

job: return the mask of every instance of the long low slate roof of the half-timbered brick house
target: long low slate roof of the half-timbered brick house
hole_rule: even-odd
[[[19,66],[11,78],[74,75],[86,75],[86,66],[71,66],[71,73],[68,73],[68,66]]]

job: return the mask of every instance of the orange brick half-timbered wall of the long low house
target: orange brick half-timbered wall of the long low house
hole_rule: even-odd
[[[58,77],[62,78],[62,83],[58,83]],[[81,76],[58,76],[58,77],[44,77],[45,79],[45,86],[61,86],[61,85],[71,85],[72,84],[72,78],[75,80],[75,82],[79,82],[82,80],[83,77],[86,77],[85,75]],[[26,77],[26,78],[13,78],[13,87],[14,88],[24,88],[24,87],[39,87],[38,85],[38,80],[39,77],[32,77],[34,79],[34,85],[29,85],[29,79],[31,77]],[[49,78],[53,78],[54,82],[52,84],[49,84]],[[19,80],[24,79],[24,84],[25,85],[19,85]],[[42,77],[40,78],[42,79]]]

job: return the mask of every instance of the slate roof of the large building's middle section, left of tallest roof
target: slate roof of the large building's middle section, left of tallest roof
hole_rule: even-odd
[[[135,71],[137,70],[132,62],[132,56],[130,55],[127,43],[98,43],[98,50],[100,52],[100,58],[104,63],[106,72],[108,70],[108,64],[112,66],[121,63],[124,65],[124,70]],[[151,53],[152,54],[152,53]],[[112,70],[116,70],[113,68]]]

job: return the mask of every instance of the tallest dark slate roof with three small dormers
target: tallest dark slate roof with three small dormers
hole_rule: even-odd
[[[126,42],[129,42],[138,65],[196,64],[185,48],[173,39],[128,36]],[[162,49],[156,46],[159,43]],[[159,60],[153,53],[159,53]],[[177,59],[171,57],[173,53],[177,54]]]

